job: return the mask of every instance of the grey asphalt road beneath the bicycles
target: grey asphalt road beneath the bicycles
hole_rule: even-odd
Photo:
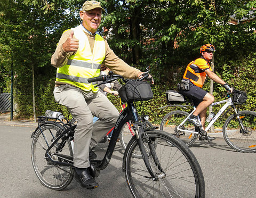
[[[0,197],[131,197],[122,172],[123,149],[117,143],[109,166],[97,178],[99,187],[82,188],[75,179],[63,191],[44,187],[30,159],[30,135],[35,126],[0,122]],[[95,150],[103,156],[108,143]],[[236,152],[222,138],[196,142],[190,148],[203,170],[206,197],[255,197],[256,154]]]

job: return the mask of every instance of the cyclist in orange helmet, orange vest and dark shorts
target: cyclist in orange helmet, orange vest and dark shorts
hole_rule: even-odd
[[[228,91],[232,92],[232,88],[230,88],[228,84],[218,77],[211,69],[210,61],[212,60],[213,52],[215,52],[215,47],[211,44],[203,45],[200,48],[200,53],[202,56],[195,61],[190,62],[183,75],[183,83],[189,85],[181,86],[179,89],[179,92],[190,97],[196,106],[195,112],[191,114],[188,120],[193,123],[193,125],[202,127],[203,130],[205,129],[207,107],[214,102],[214,96],[202,89],[206,77],[208,76],[213,81],[221,84]],[[201,119],[201,123],[199,123],[196,118],[198,115]],[[205,137],[200,139],[205,139]],[[212,139],[214,138],[208,136],[208,140]]]

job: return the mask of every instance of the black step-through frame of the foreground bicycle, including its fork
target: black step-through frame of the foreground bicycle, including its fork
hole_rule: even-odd
[[[41,118],[45,119],[45,117],[41,117]],[[98,170],[98,171],[103,170],[108,166],[108,164],[110,162],[110,159],[111,159],[111,156],[114,152],[115,145],[116,145],[117,139],[119,137],[119,134],[121,132],[121,129],[122,129],[123,125],[126,122],[129,122],[130,120],[132,120],[133,123],[134,123],[133,129],[135,131],[135,135],[137,137],[141,153],[144,153],[144,154],[142,154],[143,155],[143,160],[145,161],[145,164],[146,164],[146,167],[149,171],[149,174],[151,175],[153,180],[157,180],[158,177],[155,176],[154,172],[151,170],[148,156],[145,154],[146,151],[145,151],[145,148],[142,145],[143,144],[143,141],[142,141],[142,135],[143,135],[142,134],[142,128],[143,127],[139,128],[140,120],[139,120],[139,116],[138,116],[137,110],[136,110],[133,102],[128,103],[127,107],[125,109],[123,109],[122,112],[119,114],[119,117],[118,117],[118,119],[116,121],[116,124],[115,124],[115,127],[113,129],[113,134],[111,136],[109,145],[107,147],[107,151],[106,151],[105,156],[103,157],[103,159],[102,160],[90,160],[90,162],[95,166],[95,169]],[[43,125],[44,125],[44,123],[43,123]],[[38,126],[38,128],[41,130],[41,133],[43,134],[41,127]],[[52,147],[60,139],[62,139],[62,142],[59,144],[57,150],[58,149],[61,150],[62,149],[61,146],[62,146],[62,143],[65,142],[65,138],[70,138],[71,137],[68,133],[72,132],[75,128],[76,128],[76,125],[73,125],[73,126],[70,126],[70,127],[66,126],[65,130],[62,131],[61,135],[59,135],[57,138],[54,138],[54,136],[53,136],[54,141],[49,145],[49,147],[45,151],[45,158],[46,158],[47,161],[49,161],[49,163],[52,163],[54,165],[59,164],[61,166],[74,167],[73,159],[71,159],[69,156],[62,155],[62,154],[57,154],[57,153],[49,153],[49,152],[51,151]],[[43,136],[44,136],[44,134],[43,134]],[[47,142],[46,139],[45,139],[45,141]],[[49,143],[47,143],[47,144],[49,144]],[[64,161],[55,161],[54,159],[52,159],[51,154],[58,156],[58,158],[63,159]],[[154,156],[154,161],[155,162],[158,161],[157,156]],[[160,169],[162,170],[161,167],[159,167],[159,170]]]

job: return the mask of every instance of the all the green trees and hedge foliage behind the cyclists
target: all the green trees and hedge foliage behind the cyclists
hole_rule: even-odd
[[[256,1],[201,0],[109,0],[99,34],[125,62],[142,71],[151,65],[154,100],[144,103],[141,112],[159,123],[172,110],[165,92],[175,89],[186,65],[199,56],[199,47],[212,43],[216,48],[215,72],[231,86],[247,90],[249,100],[242,108],[255,110],[256,21],[252,20]],[[84,0],[18,0],[0,2],[0,86],[10,91],[10,71],[14,71],[14,101],[21,117],[33,116],[32,76],[35,75],[37,115],[47,109],[68,111],[55,103],[51,55],[62,32],[79,24]],[[229,23],[230,16],[239,20]],[[245,19],[250,19],[244,22]],[[223,100],[224,89],[214,84],[215,101]],[[209,84],[205,86],[209,90]],[[108,96],[119,107],[116,97]],[[214,107],[214,111],[218,107]],[[120,109],[119,109],[120,110]]]

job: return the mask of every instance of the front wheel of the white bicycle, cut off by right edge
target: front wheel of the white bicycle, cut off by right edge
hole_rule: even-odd
[[[228,117],[223,125],[223,136],[228,145],[243,153],[256,153],[256,112],[239,111],[245,128],[243,133],[235,114]]]

